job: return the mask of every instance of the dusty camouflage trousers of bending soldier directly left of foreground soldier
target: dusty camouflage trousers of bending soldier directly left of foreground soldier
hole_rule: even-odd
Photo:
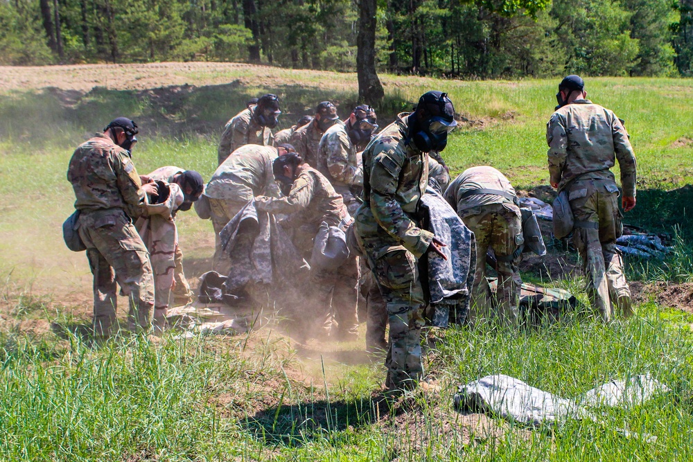
[[[350,256],[333,272],[311,272],[315,322],[322,336],[356,339],[358,319],[358,258]]]

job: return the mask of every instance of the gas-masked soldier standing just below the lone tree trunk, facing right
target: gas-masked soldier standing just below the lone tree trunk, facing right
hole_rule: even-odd
[[[360,201],[352,188],[363,186],[361,152],[378,130],[376,112],[368,105],[357,106],[347,123],[335,123],[320,139],[317,150],[317,170],[342,195],[349,213],[356,213]]]

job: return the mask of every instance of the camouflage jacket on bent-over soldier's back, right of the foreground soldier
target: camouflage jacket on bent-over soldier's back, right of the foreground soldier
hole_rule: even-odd
[[[444,197],[457,213],[467,208],[512,202],[507,197],[494,194],[473,194],[462,197],[465,193],[477,189],[500,190],[517,197],[515,189],[505,175],[489,166],[472,167],[464,170],[459,174],[459,177],[450,183]]]

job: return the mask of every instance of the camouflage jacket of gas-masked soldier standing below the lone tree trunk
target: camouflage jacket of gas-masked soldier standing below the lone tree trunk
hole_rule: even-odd
[[[343,123],[335,123],[322,135],[317,150],[317,170],[335,186],[363,184],[363,168]]]

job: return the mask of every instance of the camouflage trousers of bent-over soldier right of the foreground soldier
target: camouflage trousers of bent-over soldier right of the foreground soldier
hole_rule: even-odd
[[[467,314],[467,323],[474,326],[487,322],[491,316],[491,290],[486,281],[486,251],[493,249],[497,260],[498,292],[496,292],[498,321],[516,326],[520,298],[520,275],[513,254],[522,244],[520,209],[509,203],[489,204],[467,208],[460,212],[462,221],[476,238],[477,261],[474,286]]]

